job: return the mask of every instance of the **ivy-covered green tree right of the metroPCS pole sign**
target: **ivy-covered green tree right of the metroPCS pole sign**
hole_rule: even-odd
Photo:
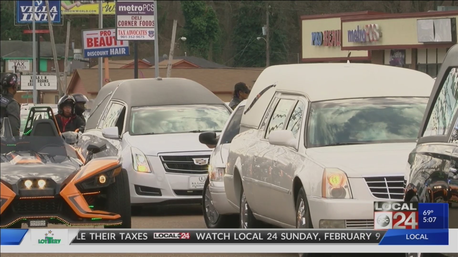
[[[185,17],[183,36],[189,55],[208,58],[211,42],[218,42],[219,21],[216,12],[205,1],[180,1]]]

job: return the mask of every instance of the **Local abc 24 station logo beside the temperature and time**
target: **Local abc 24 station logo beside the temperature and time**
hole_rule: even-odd
[[[374,202],[374,229],[418,229],[418,203]]]

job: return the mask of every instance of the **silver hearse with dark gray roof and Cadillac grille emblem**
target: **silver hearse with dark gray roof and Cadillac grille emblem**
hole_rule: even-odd
[[[181,78],[113,81],[93,103],[78,141],[121,155],[134,211],[143,206],[201,203],[211,150],[203,131],[221,132],[231,110],[201,84]]]

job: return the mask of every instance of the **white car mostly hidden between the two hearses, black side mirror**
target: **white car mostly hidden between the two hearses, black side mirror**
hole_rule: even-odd
[[[199,141],[209,147],[214,147],[210,155],[208,177],[203,187],[202,210],[207,228],[238,228],[239,212],[229,204],[224,191],[223,176],[229,155],[232,139],[240,132],[240,119],[246,100],[235,107],[218,137],[213,131],[202,132]]]

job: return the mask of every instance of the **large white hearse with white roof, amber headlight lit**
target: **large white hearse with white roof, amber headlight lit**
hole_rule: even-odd
[[[265,69],[224,174],[241,227],[373,228],[373,202],[403,198],[433,84],[425,73],[376,64]]]

